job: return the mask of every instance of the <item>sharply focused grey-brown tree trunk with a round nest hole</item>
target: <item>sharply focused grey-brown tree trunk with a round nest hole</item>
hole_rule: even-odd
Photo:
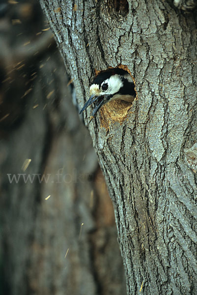
[[[109,103],[88,125],[113,200],[127,293],[196,295],[195,15],[162,0],[40,3],[80,107],[95,71],[126,65],[135,80],[132,106]]]

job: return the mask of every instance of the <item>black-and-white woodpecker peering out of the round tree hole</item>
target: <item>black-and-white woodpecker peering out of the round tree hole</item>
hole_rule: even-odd
[[[80,114],[84,112],[88,106],[94,104],[90,117],[91,121],[102,105],[109,101],[121,99],[133,102],[136,97],[134,88],[133,79],[127,71],[121,68],[102,71],[92,82],[89,89],[90,98],[84,104]]]

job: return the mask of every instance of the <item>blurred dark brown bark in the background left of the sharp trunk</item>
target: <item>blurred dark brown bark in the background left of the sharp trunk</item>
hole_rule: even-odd
[[[125,294],[112,202],[40,9],[13,1],[0,19],[0,295]]]

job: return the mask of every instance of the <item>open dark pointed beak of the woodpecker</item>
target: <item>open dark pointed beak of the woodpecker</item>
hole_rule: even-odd
[[[91,118],[94,118],[98,110],[102,107],[102,105],[108,102],[111,97],[112,95],[100,95],[100,96],[91,95],[88,101],[86,101],[86,103],[84,104],[84,107],[81,109],[80,114],[84,112],[84,110],[86,110],[88,106],[90,106],[92,103],[95,102],[95,105],[91,114]]]

